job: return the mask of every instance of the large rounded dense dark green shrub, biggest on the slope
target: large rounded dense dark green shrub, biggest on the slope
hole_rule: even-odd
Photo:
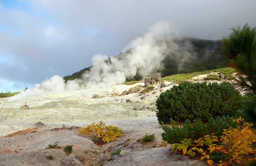
[[[183,82],[161,93],[156,103],[157,120],[166,124],[170,118],[185,122],[187,119],[208,121],[211,117],[234,116],[241,108],[242,97],[228,82],[208,85],[206,82]]]

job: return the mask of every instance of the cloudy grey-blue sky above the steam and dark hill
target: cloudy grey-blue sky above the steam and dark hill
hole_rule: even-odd
[[[182,37],[218,40],[256,26],[256,0],[0,0],[0,92],[31,88],[108,57],[167,21]]]

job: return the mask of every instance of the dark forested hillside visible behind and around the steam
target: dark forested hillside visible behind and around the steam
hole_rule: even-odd
[[[221,40],[176,37],[172,41],[164,41],[164,43],[167,45],[167,52],[162,55],[164,59],[161,61],[161,66],[158,66],[154,70],[154,72],[160,72],[163,77],[173,74],[219,69],[228,66],[227,58],[221,52]],[[172,43],[175,43],[176,49],[180,50],[175,52],[175,54],[168,52],[168,50],[175,49]],[[126,56],[129,56],[133,50],[133,48],[128,49],[113,58],[122,60]],[[184,50],[188,54],[183,54],[182,51]],[[111,58],[108,58],[105,62],[110,63]],[[67,82],[67,80],[82,79],[84,72],[88,72],[90,69],[91,66],[81,69],[79,72],[65,76],[64,80]],[[136,75],[134,77],[127,77],[126,80],[141,80],[143,79],[142,75],[140,74],[140,68],[138,68]]]

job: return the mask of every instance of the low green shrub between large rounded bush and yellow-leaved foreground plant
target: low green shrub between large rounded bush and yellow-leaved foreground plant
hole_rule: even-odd
[[[190,120],[186,120],[183,126],[177,126],[174,120],[171,120],[172,128],[163,125],[164,132],[162,133],[162,139],[168,141],[168,143],[181,143],[184,138],[191,140],[198,140],[205,135],[211,135],[215,133],[215,136],[220,138],[223,129],[229,129],[229,127],[236,128],[237,122],[233,121],[232,117],[216,117],[210,118],[209,122],[203,124],[201,120],[195,120],[194,123],[190,123]]]

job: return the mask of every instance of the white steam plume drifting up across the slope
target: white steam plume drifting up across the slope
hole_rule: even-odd
[[[109,58],[106,55],[96,54],[92,59],[92,67],[85,72],[81,80],[72,80],[64,83],[62,77],[55,75],[36,84],[32,89],[11,97],[9,100],[39,97],[47,93],[57,94],[67,91],[90,89],[88,93],[106,90],[113,85],[124,83],[125,78],[141,74],[143,77],[160,69],[165,56],[177,54],[189,56],[189,52],[180,49],[175,44],[177,34],[170,29],[167,22],[159,22],[151,26],[143,37],[131,41],[125,49],[130,49],[119,56]],[[182,57],[181,56],[181,57]],[[181,60],[180,62],[183,62]],[[181,65],[181,64],[180,64]]]

